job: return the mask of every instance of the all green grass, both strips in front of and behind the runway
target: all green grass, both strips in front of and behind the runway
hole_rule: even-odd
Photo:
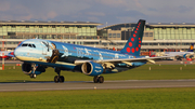
[[[148,68],[151,67],[151,70]],[[182,70],[180,70],[182,67]],[[5,66],[0,82],[53,81],[47,72],[30,79],[21,67]],[[92,81],[79,72],[62,71],[66,81]],[[104,74],[105,80],[195,79],[195,66],[144,65],[128,71]],[[41,92],[0,92],[0,109],[194,109],[195,87],[139,90],[79,90]]]

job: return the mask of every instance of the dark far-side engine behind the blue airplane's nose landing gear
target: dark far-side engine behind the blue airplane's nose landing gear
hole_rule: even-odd
[[[34,73],[34,70],[32,70],[32,69],[34,69],[34,67],[32,67],[31,64],[24,63],[24,64],[22,65],[22,70],[23,70],[23,72],[24,72],[25,74]],[[44,72],[44,71],[46,71],[46,68],[44,68],[44,67],[36,65],[36,70],[35,70],[35,73],[36,73],[36,74],[40,74],[40,73],[42,73],[42,72]]]

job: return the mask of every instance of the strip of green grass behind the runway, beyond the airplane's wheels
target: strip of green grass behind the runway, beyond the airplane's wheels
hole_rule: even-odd
[[[151,67],[151,70],[148,70]],[[180,70],[182,67],[182,70]],[[21,67],[13,69],[13,66],[5,66],[5,70],[0,70],[0,82],[23,82],[27,81],[53,81],[53,68],[48,68],[46,72],[30,79],[23,73]],[[80,72],[62,71],[65,81],[92,81],[92,77]],[[194,65],[144,65],[119,73],[103,74],[105,80],[169,80],[169,79],[195,79]]]

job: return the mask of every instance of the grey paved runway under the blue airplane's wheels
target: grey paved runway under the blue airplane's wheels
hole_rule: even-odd
[[[195,80],[126,80],[105,81],[104,83],[93,83],[92,81],[0,83],[0,92],[156,87],[195,87]]]

